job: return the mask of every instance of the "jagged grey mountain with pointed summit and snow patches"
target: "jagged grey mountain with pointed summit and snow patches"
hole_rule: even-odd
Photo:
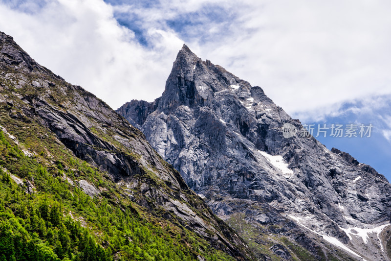
[[[386,178],[345,152],[329,151],[261,87],[187,46],[161,97],[132,100],[117,112],[260,260],[305,260],[300,246],[308,260],[390,260]]]

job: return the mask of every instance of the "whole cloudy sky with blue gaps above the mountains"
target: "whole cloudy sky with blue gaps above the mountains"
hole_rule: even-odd
[[[117,109],[164,90],[186,43],[303,123],[371,123],[319,138],[391,178],[391,1],[0,0],[0,31]]]

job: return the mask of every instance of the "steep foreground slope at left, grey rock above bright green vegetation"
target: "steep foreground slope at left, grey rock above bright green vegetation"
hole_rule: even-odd
[[[242,239],[188,188],[139,130],[96,96],[37,64],[1,32],[0,108],[4,144],[0,164],[4,180],[9,181],[1,183],[1,193],[20,190],[31,202],[40,199],[44,206],[49,202],[50,213],[59,204],[66,218],[83,220],[86,233],[95,235],[108,260],[122,260],[121,256],[125,260],[252,260]],[[13,149],[14,156],[5,153]],[[48,184],[57,184],[61,192]],[[18,202],[5,198],[1,206],[18,214]],[[28,218],[20,222],[29,224],[30,214],[16,217]],[[124,221],[130,218],[131,224]],[[38,249],[48,245],[47,251],[54,249],[64,260],[97,258],[81,254],[81,246],[59,251],[57,241],[52,244],[46,241],[47,234],[33,234],[30,228],[25,226],[26,245],[41,240],[41,245],[35,245]],[[5,233],[4,227],[0,232]],[[83,238],[87,236],[80,242]],[[7,252],[6,258],[11,255]]]

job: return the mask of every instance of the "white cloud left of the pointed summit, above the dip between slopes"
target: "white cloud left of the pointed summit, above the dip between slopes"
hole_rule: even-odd
[[[37,62],[114,109],[160,95],[183,44],[173,31],[151,28],[154,47],[142,47],[100,0],[52,0],[33,13],[0,4],[0,13],[1,30]]]

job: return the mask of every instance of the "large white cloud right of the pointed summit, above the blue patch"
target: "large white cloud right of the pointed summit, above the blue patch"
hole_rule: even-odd
[[[391,93],[389,7],[384,1],[262,1],[243,13],[234,43],[203,51],[260,85],[288,113]],[[231,57],[237,58],[230,64]]]

